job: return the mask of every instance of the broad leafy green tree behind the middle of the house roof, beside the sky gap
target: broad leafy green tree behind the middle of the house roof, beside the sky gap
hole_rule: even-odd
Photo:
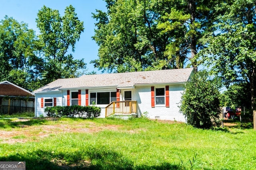
[[[164,51],[172,41],[170,33],[157,28],[170,6],[164,0],[106,0],[107,12],[97,10],[93,39],[99,45],[92,61],[104,71],[125,72],[176,68]]]

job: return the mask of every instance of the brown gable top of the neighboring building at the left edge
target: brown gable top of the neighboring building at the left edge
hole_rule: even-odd
[[[34,94],[8,81],[0,82],[0,96],[34,97]]]

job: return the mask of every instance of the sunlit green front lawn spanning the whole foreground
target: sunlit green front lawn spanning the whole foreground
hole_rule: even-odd
[[[56,126],[58,130],[50,131],[47,137],[38,137],[38,129],[44,132],[46,126]],[[30,140],[12,144],[0,141],[0,161],[26,161],[26,168],[32,170],[253,170],[256,167],[256,131],[252,129],[202,130],[184,123],[147,119],[62,118],[1,120],[1,131],[20,132],[11,140]]]

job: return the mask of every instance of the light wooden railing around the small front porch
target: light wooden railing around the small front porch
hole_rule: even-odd
[[[136,101],[113,101],[106,107],[106,117],[113,114],[136,113]]]

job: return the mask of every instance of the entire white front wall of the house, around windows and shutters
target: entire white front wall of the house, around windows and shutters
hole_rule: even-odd
[[[169,85],[169,105],[166,106],[157,106],[155,102],[155,107],[151,107],[151,86],[136,86],[133,89],[126,89],[132,91],[132,100],[137,101],[137,114],[140,117],[144,112],[148,112],[148,117],[150,119],[162,119],[162,120],[176,120],[186,122],[184,115],[179,111],[178,104],[182,96],[182,84],[173,84]],[[155,85],[155,88],[165,88],[166,85]],[[90,90],[89,89],[89,105],[90,105],[90,92],[114,92],[116,89],[104,89],[104,90]],[[124,100],[124,89],[121,89],[120,100]],[[78,90],[70,90],[72,91]],[[81,89],[81,106],[85,106],[86,103],[86,90]],[[44,108],[41,108],[41,98],[56,98],[56,106],[67,106],[67,90],[58,91],[58,92],[46,92],[36,94],[35,102],[35,116],[39,117],[40,115],[47,116],[44,113]],[[97,106],[97,105],[96,105]],[[105,117],[105,107],[107,105],[98,105],[101,107],[101,113],[99,118]]]

